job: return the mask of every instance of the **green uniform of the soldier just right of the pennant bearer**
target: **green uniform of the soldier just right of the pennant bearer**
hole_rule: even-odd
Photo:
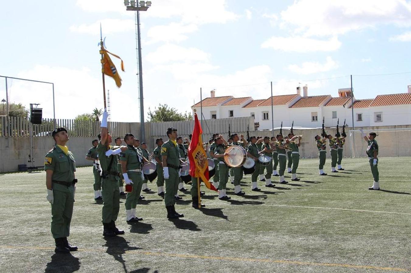
[[[127,148],[127,150],[120,153],[121,161],[127,162],[127,176],[133,181],[133,190],[132,192],[127,193],[126,201],[124,203],[126,211],[136,208],[144,178],[143,173],[141,172],[143,159],[140,150],[132,145],[127,145]]]

